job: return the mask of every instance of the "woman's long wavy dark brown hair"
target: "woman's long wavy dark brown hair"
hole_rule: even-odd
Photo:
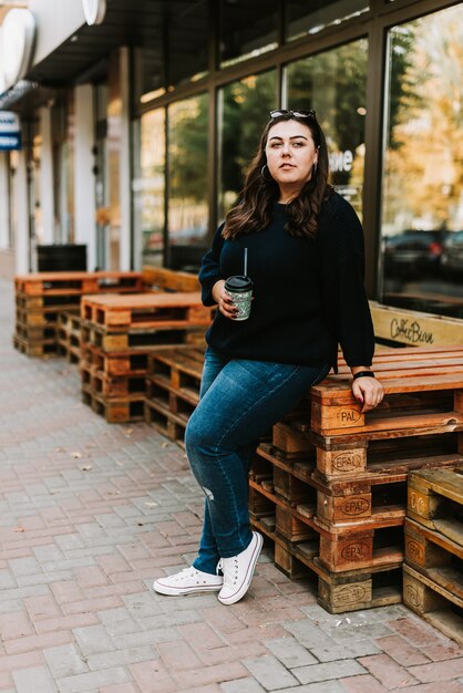
[[[223,230],[224,238],[234,239],[238,236],[261,231],[272,219],[274,203],[279,196],[279,187],[270,176],[265,148],[270,130],[281,121],[297,121],[310,130],[318,152],[318,165],[312,170],[310,180],[301,188],[299,195],[286,206],[288,221],[286,230],[292,236],[313,238],[318,228],[318,215],[321,204],[332,193],[328,184],[328,148],[323,132],[315,117],[297,117],[285,113],[271,118],[263,132],[260,144],[240,193],[240,201],[226,216]]]

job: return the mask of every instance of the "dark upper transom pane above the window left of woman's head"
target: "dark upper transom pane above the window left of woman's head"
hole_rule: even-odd
[[[222,68],[277,48],[279,4],[279,0],[222,0]]]

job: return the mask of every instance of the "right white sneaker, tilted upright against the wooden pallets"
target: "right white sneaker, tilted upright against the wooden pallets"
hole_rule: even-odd
[[[218,600],[223,604],[234,604],[248,591],[263,544],[263,535],[253,531],[253,539],[244,551],[238,556],[220,558],[218,568],[224,573],[224,587],[218,594]]]

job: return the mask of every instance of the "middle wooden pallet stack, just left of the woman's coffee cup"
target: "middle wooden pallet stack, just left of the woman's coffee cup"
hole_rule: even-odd
[[[83,400],[113,423],[144,418],[152,354],[203,343],[212,309],[197,292],[94,296],[81,318]]]

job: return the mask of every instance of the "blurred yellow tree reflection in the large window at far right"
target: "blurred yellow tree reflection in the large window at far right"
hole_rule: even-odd
[[[397,48],[409,42],[398,60]],[[463,7],[391,31],[398,85],[385,156],[384,230],[463,224]],[[399,53],[400,54],[400,53]]]

